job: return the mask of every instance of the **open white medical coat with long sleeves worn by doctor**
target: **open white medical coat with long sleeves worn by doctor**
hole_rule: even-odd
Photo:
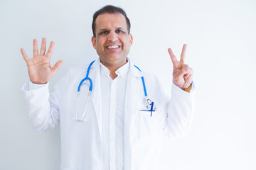
[[[61,170],[102,170],[99,59],[92,64],[89,74],[93,87],[87,106],[88,120],[85,123],[73,120],[78,85],[85,78],[87,67],[70,69],[52,94],[48,92],[48,84],[35,90],[28,90],[28,81],[23,85],[33,128],[43,132],[60,123]],[[152,116],[150,112],[139,111],[145,109],[142,76],[147,94],[156,106]],[[186,135],[192,112],[193,88],[188,93],[173,84],[171,99],[166,99],[156,77],[139,72],[131,62],[124,104],[124,169],[157,169],[162,135]]]

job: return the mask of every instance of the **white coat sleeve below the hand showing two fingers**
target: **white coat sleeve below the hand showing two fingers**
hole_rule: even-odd
[[[183,137],[191,128],[194,108],[194,84],[188,93],[175,84],[171,89],[171,101],[166,104],[166,129],[168,136]]]

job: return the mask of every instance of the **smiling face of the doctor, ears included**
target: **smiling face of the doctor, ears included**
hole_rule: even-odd
[[[96,18],[92,45],[105,66],[121,67],[126,63],[132,46],[132,35],[128,34],[125,17],[121,13],[105,13]]]

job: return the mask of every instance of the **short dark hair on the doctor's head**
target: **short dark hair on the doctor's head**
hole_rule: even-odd
[[[96,18],[97,18],[97,16],[100,16],[101,14],[105,14],[105,13],[112,13],[112,14],[121,13],[125,17],[125,20],[127,22],[127,30],[128,30],[128,33],[130,33],[131,23],[129,21],[129,18],[127,17],[127,14],[124,12],[124,10],[122,8],[117,7],[117,6],[107,5],[107,6],[104,6],[103,8],[101,8],[100,10],[96,11],[93,15],[92,33],[93,33],[94,37],[96,37],[96,33],[95,33]]]

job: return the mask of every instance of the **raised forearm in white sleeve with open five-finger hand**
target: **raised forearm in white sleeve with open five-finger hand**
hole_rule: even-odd
[[[55,75],[63,61],[58,61],[53,67],[50,67],[49,62],[53,47],[54,42],[50,42],[49,50],[45,55],[46,38],[43,38],[40,54],[38,55],[37,40],[33,40],[32,59],[30,59],[23,48],[21,48],[21,53],[28,66],[28,75],[31,80],[31,82],[27,81],[26,84],[24,84],[22,90],[28,106],[28,118],[33,128],[39,132],[50,130],[54,128],[55,125],[58,125],[59,122],[58,103],[60,94],[58,94],[58,91],[60,90],[50,95],[48,91],[48,81]],[[57,87],[57,89],[60,88]]]

